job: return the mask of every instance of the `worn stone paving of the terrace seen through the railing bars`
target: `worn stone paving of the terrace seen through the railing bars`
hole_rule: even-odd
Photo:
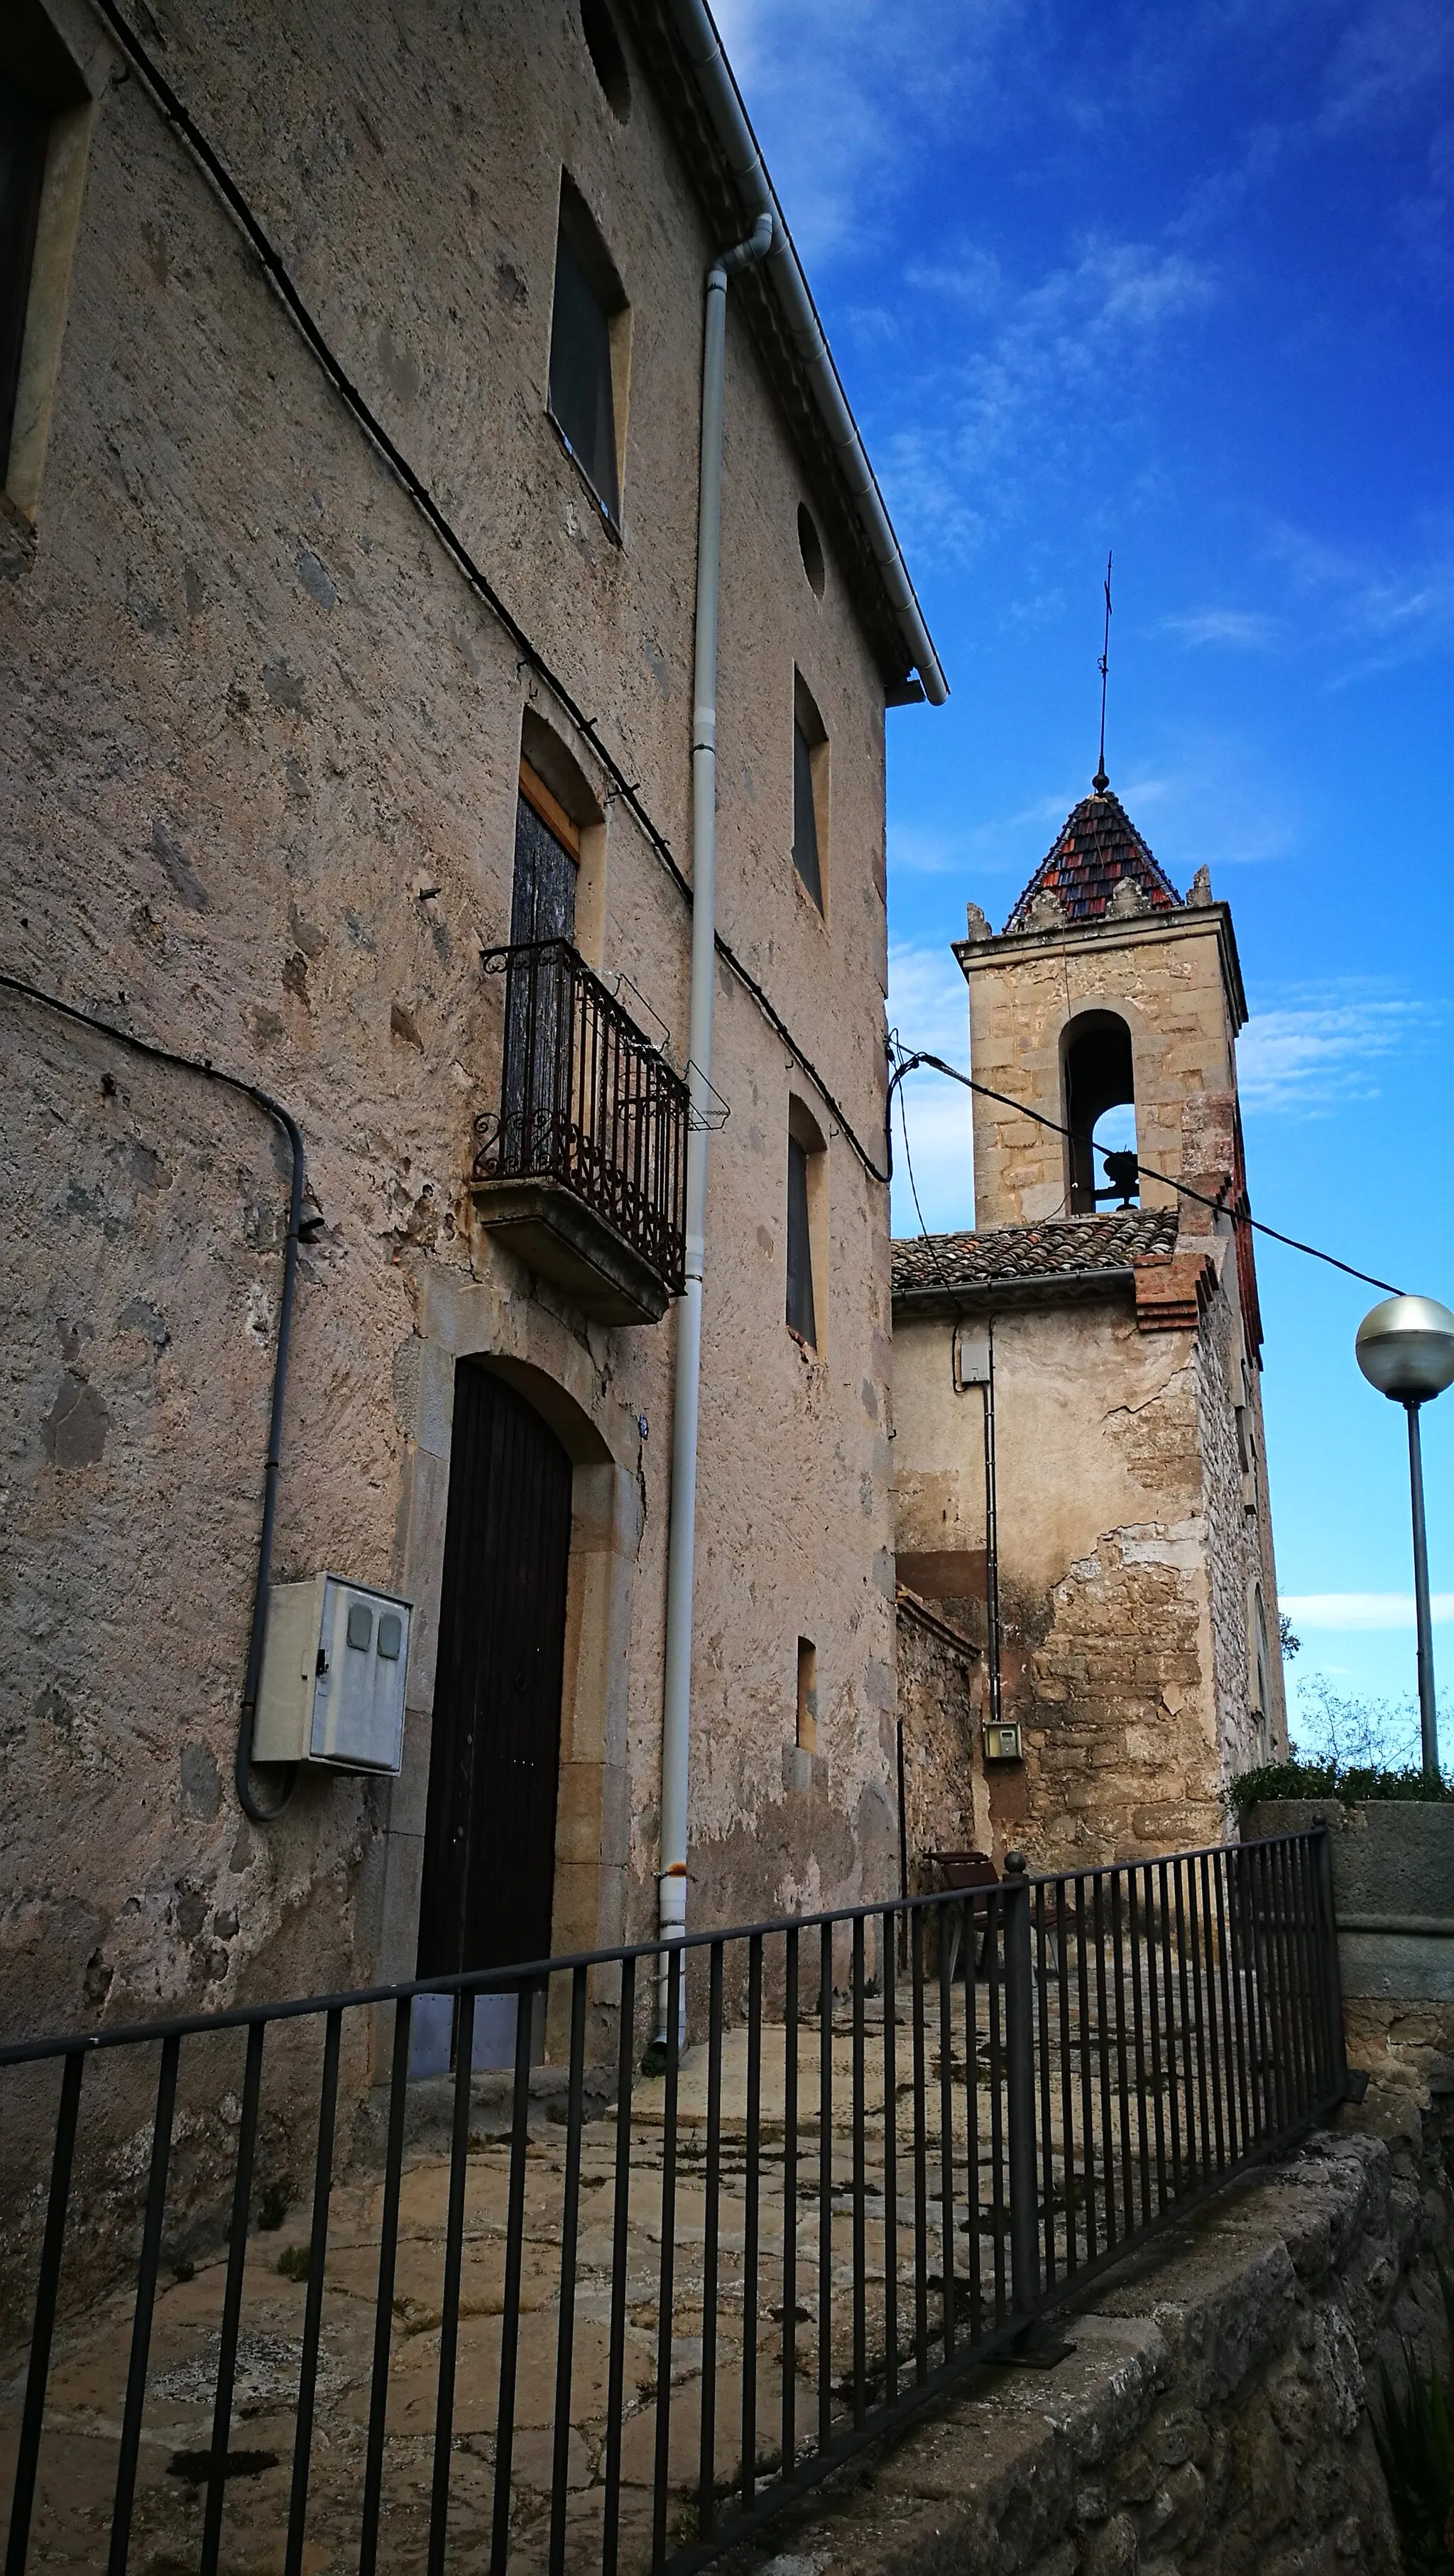
[[[990,2038],[985,1994],[974,2038],[964,2025],[964,1991],[951,2007],[951,2053],[941,2066],[938,1991],[926,1996],[923,2058],[928,2076],[926,2128],[926,2239],[923,2264],[931,2280],[928,2316],[938,2331],[944,2272],[941,2210],[941,2117],[949,2112],[954,2269],[964,2275],[972,2244],[980,2251],[987,2293],[995,2282],[995,2257],[1003,2262],[1003,2218],[990,2208],[982,2172],[990,2141]],[[833,2200],[828,2282],[830,2344],[828,2378],[840,2391],[843,2409],[853,2367],[853,2174],[864,2166],[864,2354],[869,2370],[884,2352],[884,2275],[889,2244],[897,2251],[900,2352],[907,2357],[913,2329],[915,2195],[913,2195],[913,2030],[897,2027],[895,2084],[884,2079],[882,2017],[866,2014],[864,2117],[853,2125],[853,2030],[835,2020],[830,2038],[833,2133],[828,2141],[828,2184]],[[784,2396],[784,2076],[797,2043],[799,2081],[799,2166],[797,2166],[797,2318],[794,2318],[794,2419],[799,2442],[817,2434],[820,2372],[820,2074],[822,2040],[817,2017],[789,2035],[763,2025],[761,2035],[761,2128],[758,2128],[758,2321],[755,2321],[755,2406],[753,2445],[763,2473],[771,2473],[781,2445]],[[974,2087],[969,2087],[974,2058]],[[946,2076],[946,2089],[941,2087]],[[704,2362],[704,2262],[709,2205],[704,2179],[706,2130],[706,2048],[688,2048],[678,2069],[678,2136],[673,2190],[673,2339],[668,2406],[668,2527],[675,2537],[696,2530],[696,2486],[701,2465],[701,2362]],[[722,2197],[717,2210],[717,2421],[714,2476],[730,2501],[742,2468],[742,2331],[745,2331],[745,2244],[748,2244],[748,2035],[724,2032],[722,2043]],[[518,2354],[510,2450],[510,2566],[521,2576],[544,2568],[549,2496],[554,2476],[554,2406],[559,2349],[559,2264],[565,2208],[565,2130],[552,2117],[554,2102],[531,2102],[523,2169],[523,2249],[518,2300]],[[1003,2110],[1003,2102],[1000,2102]],[[1075,2097],[1075,2117],[1080,2097]],[[974,2143],[977,2112],[980,2143]],[[897,2208],[884,2208],[884,2138],[892,2123],[897,2151]],[[1106,2138],[1119,2156],[1116,2110]],[[1134,2143],[1134,2141],[1132,2141]],[[632,2092],[629,2218],[626,2218],[626,2329],[624,2329],[624,2427],[621,2427],[621,2576],[632,2576],[650,2543],[650,2491],[657,2465],[657,2342],[660,2342],[660,2257],[663,2257],[663,2146],[665,2079],[642,2079]],[[856,2159],[858,2146],[858,2159]],[[1078,2202],[1083,2184],[1062,2138],[1060,2084],[1052,2087],[1054,2190]],[[500,2120],[472,2133],[464,2192],[464,2254],[459,2277],[459,2342],[451,2452],[451,2545],[449,2566],[482,2568],[490,2558],[492,2488],[498,2460],[498,2383],[505,2306],[505,2218],[510,2187],[510,2143]],[[384,2187],[376,2172],[343,2172],[330,2200],[327,2275],[322,2298],[322,2339],[317,2370],[315,2447],[309,2468],[307,2553],[309,2576],[330,2576],[356,2563],[358,2501],[363,2486],[363,2445],[371,2406],[374,2303],[379,2285],[379,2231]],[[428,2499],[433,2478],[433,2427],[441,2352],[443,2233],[449,2215],[449,2156],[438,2148],[410,2154],[400,2187],[400,2233],[392,2285],[392,2354],[384,2450],[382,2566],[392,2576],[423,2571]],[[616,2226],[616,2117],[606,2112],[585,2123],[580,2138],[580,2221],[577,2277],[570,2370],[570,2432],[565,2442],[567,2568],[588,2576],[598,2566],[606,2509],[606,2393],[608,2318]],[[255,2231],[247,2244],[237,2401],[229,2455],[237,2468],[227,2481],[222,2568],[235,2576],[263,2576],[281,2566],[281,2530],[291,2481],[291,2439],[296,2375],[304,2331],[304,2282],[286,2277],[284,2264],[299,2264],[307,2249],[307,2202],[289,2210],[276,2233]],[[289,2251],[291,2249],[291,2251]],[[137,2576],[178,2576],[196,2566],[201,2540],[204,2486],[199,2463],[211,2442],[211,2383],[222,2318],[224,2259],[201,2262],[193,2277],[162,2280],[152,2349],[150,2388],[137,2483],[137,2537],[131,2568]],[[82,2321],[70,2321],[57,2336],[49,2385],[49,2429],[41,2452],[41,2486],[34,2524],[31,2566],[95,2568],[106,2561],[111,2483],[126,2357],[131,2334],[129,2293],[103,2298]],[[0,2473],[8,2473],[15,2442],[21,2383],[13,2380],[0,2406]]]

